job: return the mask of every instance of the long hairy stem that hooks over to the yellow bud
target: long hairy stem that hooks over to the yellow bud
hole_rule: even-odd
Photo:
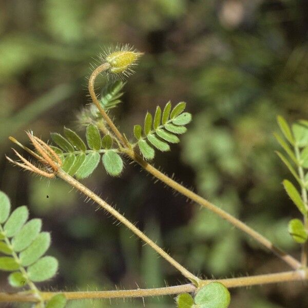
[[[115,134],[115,136],[121,141],[121,143],[124,145],[124,148],[122,149],[123,152],[126,153],[132,160],[136,161],[141,167],[143,167],[146,171],[148,171],[151,175],[165,183],[166,185],[170,186],[171,188],[175,189],[176,191],[180,192],[180,194],[184,195],[185,197],[189,198],[192,201],[197,202],[203,207],[206,207],[207,209],[213,211],[217,215],[219,215],[221,218],[225,219],[229,223],[233,224],[235,227],[242,230],[244,233],[248,234],[252,238],[254,238],[256,241],[258,241],[260,244],[265,246],[267,249],[272,251],[276,256],[281,258],[283,261],[285,261],[287,264],[289,264],[292,268],[297,269],[301,266],[301,263],[293,258],[292,256],[288,255],[284,251],[282,251],[280,248],[276,247],[271,241],[269,241],[267,238],[262,236],[260,233],[256,232],[253,228],[247,226],[245,223],[240,221],[239,219],[235,218],[234,216],[228,214],[223,209],[217,207],[213,203],[210,203],[209,201],[205,200],[204,198],[200,197],[199,195],[195,194],[195,192],[192,192],[191,190],[187,189],[183,185],[177,183],[176,181],[170,179],[166,175],[164,175],[162,172],[157,170],[155,167],[151,166],[149,163],[147,163],[138,153],[133,151],[131,147],[127,144],[126,139],[123,137],[121,132],[118,130],[118,128],[114,125],[114,123],[111,121],[111,119],[108,117],[105,110],[102,108],[100,102],[98,101],[95,91],[94,91],[94,82],[97,76],[102,72],[109,68],[108,63],[104,63],[100,65],[98,68],[96,68],[89,79],[89,92],[91,99],[95,106],[98,107],[100,113],[102,114],[103,119],[107,122],[109,127],[111,128],[112,132]]]

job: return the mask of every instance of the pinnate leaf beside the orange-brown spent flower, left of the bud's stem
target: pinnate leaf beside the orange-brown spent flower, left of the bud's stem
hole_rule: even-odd
[[[65,137],[64,137],[65,136]],[[98,127],[89,124],[86,128],[87,146],[82,138],[73,130],[64,127],[64,136],[52,132],[51,139],[57,145],[52,148],[63,161],[62,169],[70,176],[78,179],[87,178],[98,167],[102,155],[102,163],[111,176],[119,176],[123,170],[123,160],[112,148],[111,136],[101,138]]]

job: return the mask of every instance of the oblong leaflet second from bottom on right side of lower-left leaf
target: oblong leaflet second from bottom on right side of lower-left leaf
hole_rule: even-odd
[[[48,232],[40,233],[31,245],[22,251],[19,255],[21,264],[28,266],[41,258],[50,246],[50,234]]]

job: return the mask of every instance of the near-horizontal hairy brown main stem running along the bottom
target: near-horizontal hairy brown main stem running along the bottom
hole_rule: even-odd
[[[256,275],[249,277],[239,278],[227,278],[227,279],[213,279],[213,280],[202,280],[201,285],[206,285],[210,282],[218,281],[224,284],[226,287],[243,287],[257,284],[268,284],[268,283],[280,283],[288,281],[300,281],[306,280],[305,271],[291,271],[282,272],[266,275]],[[173,295],[181,294],[184,292],[194,292],[197,288],[195,285],[183,284],[176,286],[167,286],[159,288],[149,288],[137,290],[116,290],[116,291],[87,291],[87,292],[41,292],[41,296],[44,300],[49,300],[55,294],[62,293],[68,300],[76,299],[111,299],[111,298],[131,298],[131,297],[148,297],[148,296],[162,296],[162,295]],[[35,302],[37,298],[32,294],[26,292],[18,293],[0,293],[0,302]]]

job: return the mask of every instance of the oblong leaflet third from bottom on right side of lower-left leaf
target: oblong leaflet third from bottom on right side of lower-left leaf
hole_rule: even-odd
[[[29,220],[12,239],[12,247],[15,252],[21,252],[27,248],[40,233],[42,220],[34,218]]]

